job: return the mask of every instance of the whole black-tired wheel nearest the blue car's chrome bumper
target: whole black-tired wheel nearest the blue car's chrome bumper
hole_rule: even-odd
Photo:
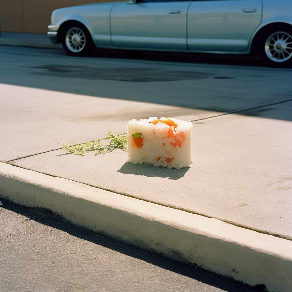
[[[87,28],[80,22],[69,22],[62,32],[62,44],[70,56],[88,56],[95,46]]]

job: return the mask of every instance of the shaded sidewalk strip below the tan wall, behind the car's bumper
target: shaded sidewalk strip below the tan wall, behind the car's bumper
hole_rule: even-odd
[[[63,50],[63,45],[53,44],[47,34],[1,32],[0,45]]]

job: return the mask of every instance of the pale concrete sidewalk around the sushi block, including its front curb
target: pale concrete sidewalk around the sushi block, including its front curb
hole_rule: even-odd
[[[4,84],[1,96],[1,197],[252,286],[290,291],[291,101],[254,109],[260,118],[252,110],[188,112],[193,167],[169,170],[129,164],[123,151],[64,155],[51,143],[125,133],[142,109],[182,117],[183,108]],[[79,114],[65,117],[66,108]],[[83,112],[98,120],[80,123]]]

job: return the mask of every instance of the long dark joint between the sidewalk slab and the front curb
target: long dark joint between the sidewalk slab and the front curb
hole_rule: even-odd
[[[278,238],[281,238],[281,239],[286,239],[286,240],[292,241],[292,237],[287,237],[287,236],[284,236],[284,235],[281,235],[281,234],[275,234],[275,233],[267,232],[267,231],[264,231],[264,230],[254,229],[254,228],[248,227],[246,225],[241,225],[241,224],[235,223],[233,221],[228,221],[228,220],[223,220],[223,219],[220,219],[220,218],[215,218],[215,217],[212,217],[212,216],[208,216],[208,215],[206,215],[204,213],[194,212],[194,211],[191,211],[189,209],[178,208],[178,207],[175,207],[175,206],[172,206],[172,205],[166,205],[166,204],[157,203],[157,202],[152,201],[152,200],[146,200],[146,199],[142,199],[140,197],[136,197],[136,196],[133,196],[133,195],[130,195],[130,194],[126,194],[126,193],[122,193],[122,192],[117,192],[117,191],[114,191],[114,190],[111,190],[111,189],[107,189],[107,188],[97,187],[95,185],[91,185],[89,183],[80,182],[78,180],[72,180],[70,178],[65,178],[65,177],[62,177],[62,176],[52,175],[52,174],[44,173],[44,172],[41,172],[41,171],[36,171],[34,169],[25,168],[25,167],[18,166],[18,165],[12,164],[12,163],[7,163],[7,162],[4,162],[4,163],[9,164],[11,166],[16,166],[18,168],[27,169],[27,170],[34,171],[34,172],[37,172],[37,173],[41,173],[41,174],[44,174],[44,175],[49,175],[49,176],[52,176],[54,178],[64,178],[65,180],[71,180],[71,181],[76,182],[76,183],[81,183],[83,185],[88,185],[89,187],[94,187],[96,189],[100,189],[100,190],[112,192],[114,194],[119,194],[119,195],[122,195],[122,196],[125,196],[125,197],[130,197],[130,198],[133,198],[133,199],[137,199],[137,200],[140,200],[140,201],[145,201],[145,202],[152,203],[152,204],[156,204],[156,205],[159,205],[159,206],[163,206],[163,207],[167,207],[167,208],[172,208],[172,209],[184,211],[184,212],[187,212],[187,213],[191,213],[191,214],[203,216],[203,217],[206,217],[206,218],[217,219],[217,220],[220,220],[222,222],[228,223],[230,225],[234,225],[234,226],[241,227],[241,228],[248,229],[248,230],[252,230],[252,231],[255,231],[255,232],[258,232],[258,233],[272,235],[274,237],[278,237]]]

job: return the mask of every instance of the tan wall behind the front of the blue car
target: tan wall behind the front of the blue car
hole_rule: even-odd
[[[114,0],[0,0],[2,32],[46,33],[57,8]]]

